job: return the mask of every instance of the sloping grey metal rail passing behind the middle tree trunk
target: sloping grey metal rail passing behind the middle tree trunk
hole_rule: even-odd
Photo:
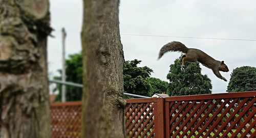
[[[73,87],[78,87],[82,88],[82,84],[76,84],[73,82],[67,82],[67,81],[60,81],[60,80],[49,80],[50,83],[55,83],[55,84],[61,84],[61,85],[66,85],[66,86],[73,86]],[[132,96],[136,98],[151,98],[151,97],[146,97],[146,96],[141,96],[141,95],[136,95],[136,94],[130,94],[130,93],[123,93],[125,96]]]

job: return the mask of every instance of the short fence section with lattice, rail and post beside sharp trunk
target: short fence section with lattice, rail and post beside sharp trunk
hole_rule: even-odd
[[[127,137],[164,136],[163,98],[127,99],[126,102]]]

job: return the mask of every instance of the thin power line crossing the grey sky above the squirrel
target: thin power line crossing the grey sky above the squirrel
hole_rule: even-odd
[[[160,36],[160,35],[140,35],[140,34],[121,34],[126,36],[145,36],[145,37],[173,37],[190,39],[215,39],[215,40],[236,40],[236,41],[256,41],[254,39],[231,39],[231,38],[206,38],[206,37],[180,37],[180,36]]]

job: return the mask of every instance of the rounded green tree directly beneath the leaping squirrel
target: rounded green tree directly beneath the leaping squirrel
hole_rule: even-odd
[[[186,62],[186,67],[181,68],[179,59],[170,65],[167,79],[170,83],[167,89],[169,96],[210,94],[212,85],[207,75],[201,74],[198,62]]]

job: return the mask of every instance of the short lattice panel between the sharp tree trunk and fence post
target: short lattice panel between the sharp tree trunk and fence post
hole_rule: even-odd
[[[156,103],[127,103],[125,125],[127,137],[155,137]]]

